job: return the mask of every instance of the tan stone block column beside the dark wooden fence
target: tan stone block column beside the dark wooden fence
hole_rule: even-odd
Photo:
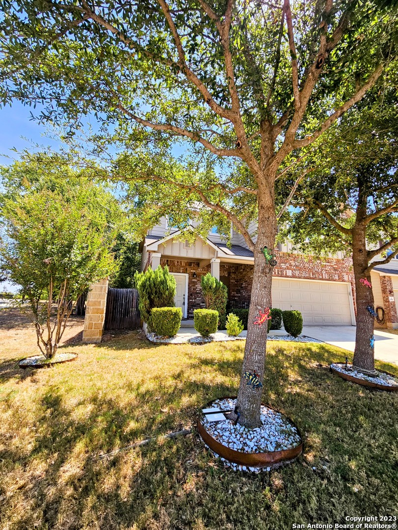
[[[90,286],[84,317],[83,342],[101,342],[107,306],[108,278]]]

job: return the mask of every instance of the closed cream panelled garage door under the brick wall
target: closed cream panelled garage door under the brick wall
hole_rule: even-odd
[[[301,312],[305,326],[352,325],[350,284],[273,278],[272,306]]]

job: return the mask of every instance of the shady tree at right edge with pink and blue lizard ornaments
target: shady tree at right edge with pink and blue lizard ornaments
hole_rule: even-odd
[[[392,74],[398,70],[394,69]],[[353,366],[374,373],[374,296],[370,271],[398,254],[398,100],[396,79],[341,118],[308,155],[279,236],[304,251],[352,257],[357,330]],[[376,101],[375,101],[376,100]],[[296,175],[291,175],[297,179]],[[377,258],[377,259],[376,259]]]

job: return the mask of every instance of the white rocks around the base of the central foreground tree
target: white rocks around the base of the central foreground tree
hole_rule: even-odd
[[[235,407],[235,403],[235,399],[220,399],[213,401],[211,406],[220,410],[231,410]],[[239,424],[235,426],[230,420],[207,421],[205,416],[201,421],[206,431],[214,439],[240,453],[282,451],[297,447],[302,441],[296,427],[283,414],[264,405],[261,405],[262,426],[255,429],[248,429]],[[215,454],[212,449],[210,450]],[[219,455],[215,454],[215,456]],[[261,471],[270,471],[277,466],[283,465],[283,463],[279,463],[269,467],[248,467],[235,464],[222,457],[220,458],[225,465],[232,467],[235,471],[259,473]]]

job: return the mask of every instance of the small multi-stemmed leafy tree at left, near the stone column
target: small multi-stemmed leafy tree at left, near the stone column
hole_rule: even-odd
[[[24,155],[0,176],[0,273],[20,286],[37,346],[51,359],[76,299],[117,268],[124,214],[103,183],[56,154]]]

